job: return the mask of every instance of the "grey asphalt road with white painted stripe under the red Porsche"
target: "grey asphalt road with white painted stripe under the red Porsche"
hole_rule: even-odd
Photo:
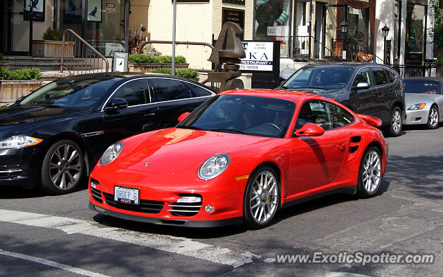
[[[442,137],[443,127],[408,127],[388,138],[379,195],[333,195],[292,206],[257,231],[182,229],[105,217],[89,210],[86,185],[62,196],[2,187],[0,276],[443,276]],[[332,258],[278,262],[280,255],[312,258],[316,252],[344,251],[427,253],[435,260],[431,265],[331,263]]]

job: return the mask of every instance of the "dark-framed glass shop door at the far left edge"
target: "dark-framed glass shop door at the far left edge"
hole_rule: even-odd
[[[29,53],[29,6],[27,0],[1,1],[2,32],[1,50],[6,54],[28,55]],[[35,8],[41,8],[36,6]],[[33,8],[33,9],[35,9]],[[26,19],[26,20],[25,20]]]

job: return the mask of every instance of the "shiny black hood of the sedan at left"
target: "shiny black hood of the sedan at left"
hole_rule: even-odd
[[[78,109],[42,106],[12,106],[0,109],[0,126],[35,123],[38,120],[72,114]]]

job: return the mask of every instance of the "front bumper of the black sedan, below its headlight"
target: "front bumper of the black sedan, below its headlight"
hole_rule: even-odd
[[[0,186],[32,188],[37,183],[40,160],[37,148],[0,150]]]

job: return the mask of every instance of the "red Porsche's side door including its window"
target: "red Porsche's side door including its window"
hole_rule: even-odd
[[[291,169],[288,195],[327,186],[334,181],[347,153],[349,138],[334,129],[329,105],[325,101],[309,100],[300,108],[296,129],[314,123],[325,129],[321,136],[291,139]]]

